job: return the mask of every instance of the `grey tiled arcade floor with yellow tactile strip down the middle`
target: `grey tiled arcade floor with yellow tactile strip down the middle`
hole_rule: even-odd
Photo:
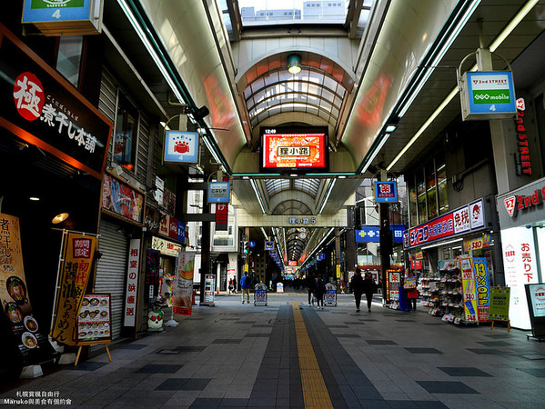
[[[264,307],[219,296],[176,317],[177,328],[112,345],[112,363],[100,354],[66,366],[0,403],[51,391],[89,408],[545,407],[545,343],[526,332],[444,324],[423,307],[356,314],[344,294],[324,310],[306,299],[269,294]]]

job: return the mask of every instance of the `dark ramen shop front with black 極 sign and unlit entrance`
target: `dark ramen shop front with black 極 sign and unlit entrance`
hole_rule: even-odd
[[[51,327],[63,229],[97,233],[112,124],[2,25],[0,72],[1,213],[5,220],[18,221],[21,241],[21,262],[15,264],[10,261],[14,242],[3,235],[0,287],[6,288],[12,276],[22,277],[24,284],[17,288],[25,293],[25,301],[19,300],[25,305],[15,300],[12,310],[18,313],[19,308],[25,316],[11,318],[33,322],[25,333],[30,344],[24,342],[21,349],[20,337],[14,337],[17,323],[9,317],[0,320],[0,337],[10,340],[0,367],[15,368],[42,361],[48,352],[32,341],[39,338],[35,334],[46,337]],[[13,300],[4,295],[2,310],[7,313],[4,306]]]

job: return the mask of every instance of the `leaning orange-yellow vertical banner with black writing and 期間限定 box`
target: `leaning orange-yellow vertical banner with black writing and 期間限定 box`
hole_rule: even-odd
[[[86,234],[66,234],[61,263],[56,314],[51,336],[57,341],[76,345],[77,313],[86,291],[91,264],[95,255],[96,237]]]

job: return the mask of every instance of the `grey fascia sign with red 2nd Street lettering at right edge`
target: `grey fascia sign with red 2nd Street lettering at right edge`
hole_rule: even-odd
[[[498,214],[502,229],[540,223],[545,200],[545,178],[498,195]]]

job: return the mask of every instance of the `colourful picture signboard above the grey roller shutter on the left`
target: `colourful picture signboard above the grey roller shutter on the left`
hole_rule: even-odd
[[[114,176],[104,175],[102,184],[102,209],[112,214],[143,223],[144,195]]]

